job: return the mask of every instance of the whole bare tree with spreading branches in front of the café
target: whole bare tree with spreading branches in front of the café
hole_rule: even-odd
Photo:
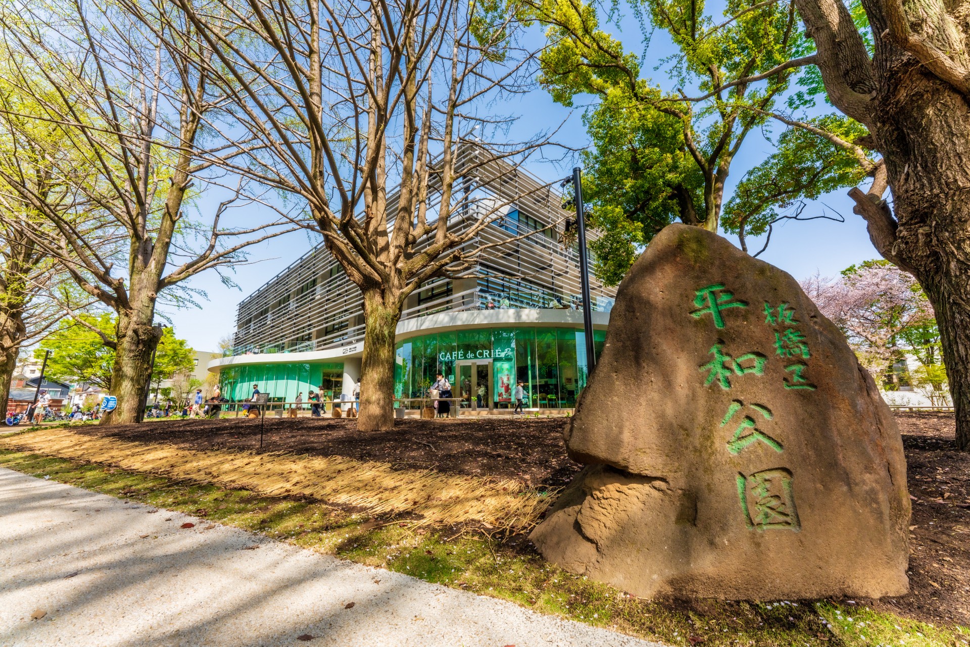
[[[514,118],[490,111],[532,84],[523,27],[501,5],[459,0],[176,1],[216,52],[226,110],[265,145],[218,163],[305,200],[363,293],[358,427],[389,429],[404,299],[467,271],[492,246],[468,243],[509,202],[469,222],[469,177],[500,182],[548,143],[488,141]]]

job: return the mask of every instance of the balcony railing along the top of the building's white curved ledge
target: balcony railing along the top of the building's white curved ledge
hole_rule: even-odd
[[[616,301],[610,297],[592,297],[594,312],[609,312]],[[401,313],[401,320],[428,316],[438,312],[462,312],[468,310],[501,309],[572,309],[581,310],[583,299],[577,294],[557,294],[545,291],[493,292],[479,288],[466,290],[455,295],[440,297],[417,307],[410,307]],[[242,344],[225,350],[223,357],[237,355],[258,355],[262,353],[303,353],[313,350],[326,350],[348,346],[364,340],[364,325],[345,328],[331,333],[319,340],[279,341],[263,344]]]

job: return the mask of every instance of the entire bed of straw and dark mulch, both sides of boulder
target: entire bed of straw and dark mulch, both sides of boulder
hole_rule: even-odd
[[[970,454],[955,451],[950,414],[900,413],[897,419],[913,497],[912,592],[866,603],[887,617],[970,625]],[[265,454],[255,452],[258,424],[234,418],[45,430],[7,437],[0,446],[326,501],[377,524],[446,527],[442,536],[465,528],[494,540],[495,529],[503,528],[510,534],[496,550],[529,561],[534,549],[523,531],[580,467],[566,456],[566,422],[404,420],[392,432],[365,435],[353,420],[267,420]]]

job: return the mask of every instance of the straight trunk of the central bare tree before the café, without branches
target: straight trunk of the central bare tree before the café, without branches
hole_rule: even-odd
[[[388,302],[392,302],[388,306]],[[380,432],[394,428],[394,336],[401,318],[396,300],[379,290],[364,292],[364,357],[357,428]]]

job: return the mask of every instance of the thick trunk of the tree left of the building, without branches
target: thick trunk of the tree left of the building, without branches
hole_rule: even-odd
[[[121,313],[118,316],[117,347],[110,389],[110,394],[117,398],[117,406],[101,417],[102,425],[138,422],[139,411],[145,404],[148,376],[151,374],[151,353],[161,340],[160,329],[151,325],[154,300],[151,300],[150,307],[144,307],[136,315]]]

